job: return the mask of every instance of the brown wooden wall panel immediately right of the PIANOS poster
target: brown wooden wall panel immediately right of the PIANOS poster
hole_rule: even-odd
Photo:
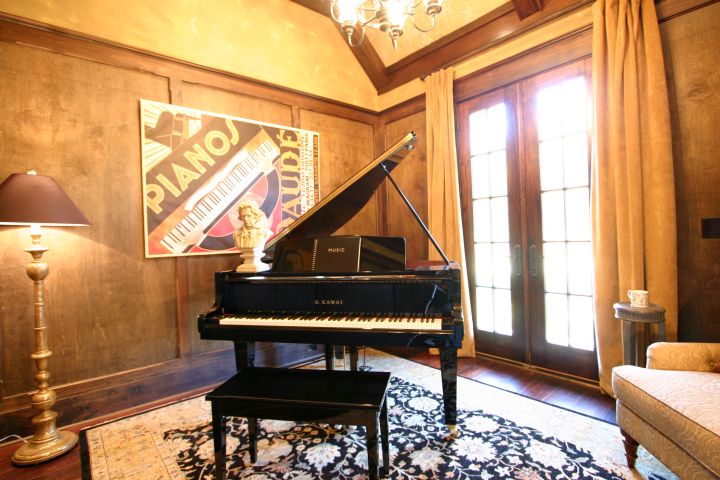
[[[373,125],[301,109],[298,127],[320,132],[321,198],[375,158]],[[336,234],[377,235],[377,214],[377,199],[373,197]]]

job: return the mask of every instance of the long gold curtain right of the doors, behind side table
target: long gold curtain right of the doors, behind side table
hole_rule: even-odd
[[[622,363],[613,303],[645,289],[677,338],[677,227],[670,110],[653,0],[593,6],[592,179],[595,315],[600,387]]]

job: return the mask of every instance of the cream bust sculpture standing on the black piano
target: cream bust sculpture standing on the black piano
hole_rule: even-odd
[[[265,226],[267,218],[258,204],[252,200],[244,201],[238,205],[238,220],[242,222],[240,228],[233,233],[235,246],[240,250],[243,263],[238,272],[262,272],[270,268],[260,259],[263,256],[265,242],[272,231]]]

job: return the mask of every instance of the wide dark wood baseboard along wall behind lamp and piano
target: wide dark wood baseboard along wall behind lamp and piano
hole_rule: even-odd
[[[258,344],[256,365],[286,367],[323,354],[300,344]],[[53,386],[57,425],[70,425],[101,417],[158,399],[213,386],[235,373],[232,348],[189,355],[167,362],[67,385]],[[37,412],[30,394],[6,397],[0,404],[0,431],[26,437],[33,434],[31,419]]]

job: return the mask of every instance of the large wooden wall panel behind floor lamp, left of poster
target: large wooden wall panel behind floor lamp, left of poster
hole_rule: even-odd
[[[49,369],[58,385],[172,359],[172,260],[143,255],[138,100],[166,78],[0,43],[0,176],[54,177],[90,227],[48,232]],[[4,395],[35,388],[26,232],[0,229]],[[18,253],[19,252],[19,253]]]

